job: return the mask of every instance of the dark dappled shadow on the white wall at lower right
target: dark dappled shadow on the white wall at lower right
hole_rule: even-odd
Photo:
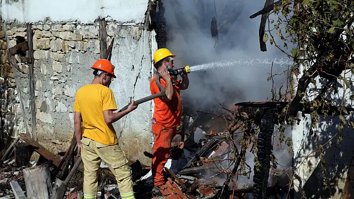
[[[353,115],[350,115],[350,120],[352,119],[354,119]],[[304,118],[303,122],[303,129],[299,130],[300,132],[298,133],[301,135],[303,133],[305,140],[301,143],[299,153],[294,156],[294,166],[300,165],[303,159],[308,156],[302,167],[304,167],[303,171],[308,170],[309,172],[304,174],[305,179],[307,176],[307,181],[304,184],[297,177],[303,187],[303,193],[298,193],[298,196],[303,194],[306,198],[313,199],[341,198],[346,181],[345,173],[348,171],[354,151],[353,131],[351,128],[344,128],[339,133],[342,136],[342,142],[338,145],[338,117],[324,118],[321,116],[321,122],[313,131],[308,131],[310,129],[308,116]],[[327,145],[325,145],[326,143]],[[323,146],[322,152],[319,150],[320,146]],[[322,156],[321,153],[323,154]],[[317,164],[320,159],[323,160],[322,164]],[[323,170],[322,168],[325,169]],[[323,179],[322,174],[325,179]]]

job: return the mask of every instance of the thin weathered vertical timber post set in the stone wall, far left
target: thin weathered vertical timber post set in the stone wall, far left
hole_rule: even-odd
[[[32,138],[37,140],[37,133],[35,128],[35,95],[34,95],[34,72],[33,72],[33,30],[32,24],[27,23],[27,43],[28,50],[26,52],[26,57],[29,58],[29,91],[30,91],[30,114],[31,114],[31,126],[32,126]],[[23,113],[24,114],[24,113]]]

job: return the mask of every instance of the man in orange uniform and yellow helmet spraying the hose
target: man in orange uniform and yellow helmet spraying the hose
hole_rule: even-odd
[[[169,148],[181,119],[182,103],[179,98],[179,91],[187,89],[189,84],[187,74],[181,73],[182,80],[177,80],[176,85],[172,85],[173,78],[170,77],[167,69],[174,67],[173,58],[175,56],[166,48],[156,50],[153,56],[154,66],[157,73],[160,73],[162,77],[160,83],[165,88],[166,94],[163,97],[153,99],[152,133],[155,135],[155,143],[151,172],[155,188],[160,188],[165,183],[163,167],[167,162]],[[150,81],[151,94],[160,92],[155,83],[155,77],[156,75]]]

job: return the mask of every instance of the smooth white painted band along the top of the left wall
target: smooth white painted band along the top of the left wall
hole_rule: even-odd
[[[35,22],[49,17],[52,21],[93,22],[107,17],[121,22],[143,21],[148,0],[1,0],[2,20]]]

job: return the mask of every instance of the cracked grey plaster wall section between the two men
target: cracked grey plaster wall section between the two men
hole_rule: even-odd
[[[107,24],[107,33],[114,37],[111,62],[117,78],[110,84],[118,109],[128,102],[151,95],[152,51],[151,32],[140,26]],[[110,40],[108,40],[108,43]],[[128,160],[149,165],[151,159],[143,155],[152,149],[151,102],[145,102],[115,124],[119,144]]]

